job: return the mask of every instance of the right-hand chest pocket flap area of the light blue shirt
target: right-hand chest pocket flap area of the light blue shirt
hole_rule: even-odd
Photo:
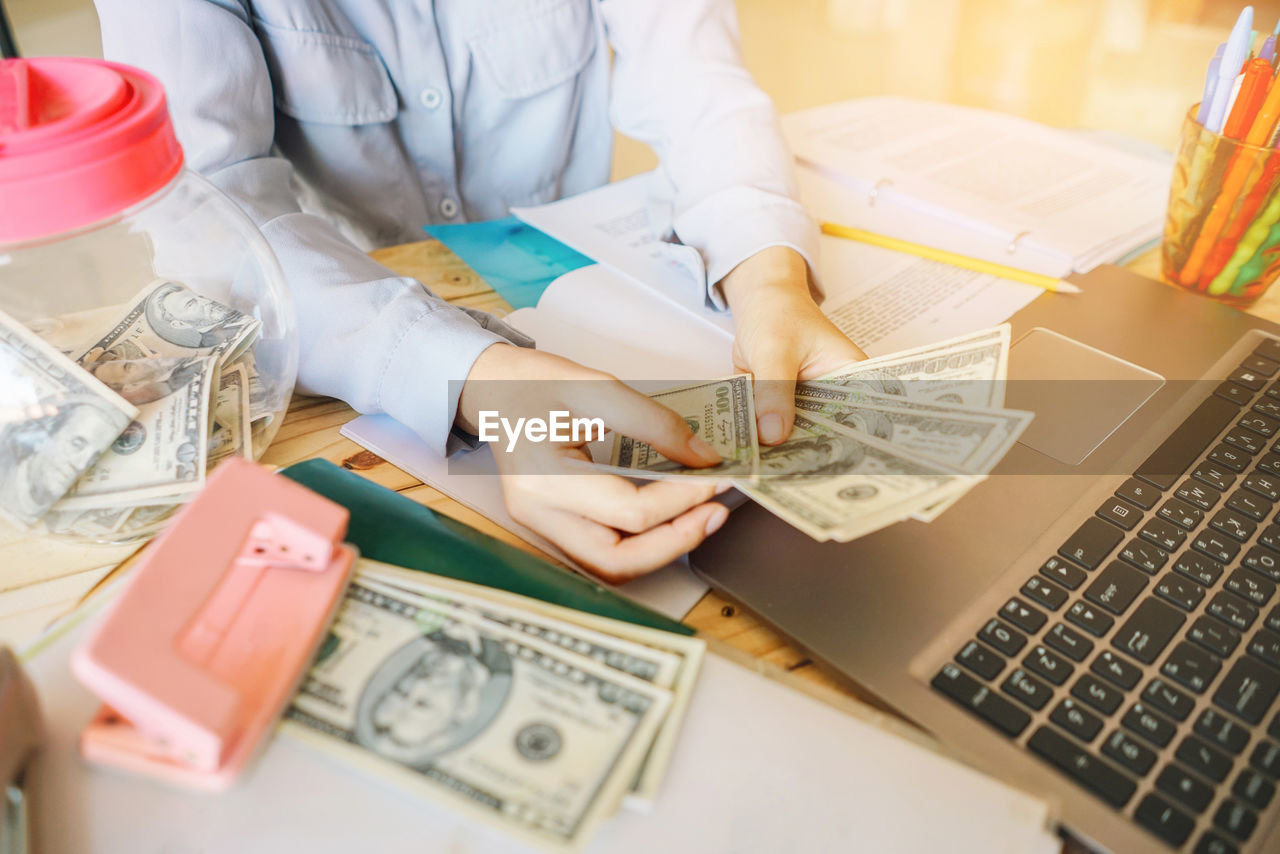
[[[599,38],[591,3],[504,4],[509,9],[468,40],[477,76],[504,99],[531,97],[577,77],[595,54]]]

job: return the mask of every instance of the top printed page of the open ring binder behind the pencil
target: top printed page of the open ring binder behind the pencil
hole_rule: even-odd
[[[1085,270],[1160,233],[1170,169],[1027,119],[870,97],[783,119],[796,157],[877,198],[964,222]],[[918,242],[928,242],[915,238]],[[1132,246],[1130,246],[1132,247]]]

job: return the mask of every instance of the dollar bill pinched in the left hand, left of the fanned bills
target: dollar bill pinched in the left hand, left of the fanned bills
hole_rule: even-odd
[[[755,396],[750,375],[668,388],[649,397],[685,419],[690,430],[719,452],[722,462],[691,469],[668,460],[644,442],[618,434],[613,439],[611,469],[635,476],[755,476],[760,447],[755,434]]]

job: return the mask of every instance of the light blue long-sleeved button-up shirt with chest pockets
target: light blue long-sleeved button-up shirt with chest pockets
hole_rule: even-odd
[[[699,250],[710,286],[768,246],[814,257],[732,0],[96,5],[108,59],[160,78],[187,164],[275,250],[300,388],[387,412],[439,451],[480,352],[530,342],[367,250],[598,187],[617,128],[658,152],[654,227]]]

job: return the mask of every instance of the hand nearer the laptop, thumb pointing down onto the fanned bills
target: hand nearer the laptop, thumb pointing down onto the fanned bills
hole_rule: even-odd
[[[746,259],[721,282],[733,311],[733,367],[755,380],[760,442],[778,444],[795,423],[796,380],[867,359],[813,301],[799,252],[774,246]]]

